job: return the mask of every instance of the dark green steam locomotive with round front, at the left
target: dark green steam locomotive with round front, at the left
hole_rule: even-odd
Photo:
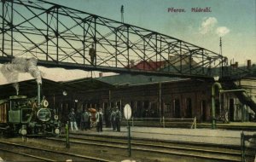
[[[0,130],[22,136],[59,136],[61,121],[45,98],[13,95],[0,100]]]

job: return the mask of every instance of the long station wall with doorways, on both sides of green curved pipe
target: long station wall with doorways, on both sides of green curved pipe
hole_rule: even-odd
[[[225,84],[222,83],[224,90]],[[78,113],[84,108],[103,108],[105,113],[118,105],[121,111],[128,103],[134,118],[194,119],[198,122],[212,120],[212,83],[185,80],[154,84],[115,86],[102,90],[72,90],[67,96],[55,96],[55,107],[65,118],[72,107]],[[249,108],[243,105],[234,93],[219,95],[216,90],[216,118],[218,121],[247,121]],[[75,102],[77,100],[78,102]],[[51,100],[53,101],[53,100]]]

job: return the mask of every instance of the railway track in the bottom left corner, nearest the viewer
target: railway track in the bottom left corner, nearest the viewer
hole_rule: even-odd
[[[40,160],[66,161],[67,159],[73,159],[73,161],[102,161],[102,162],[113,161],[109,159],[101,159],[98,157],[85,156],[83,154],[67,153],[67,151],[63,152],[63,151],[51,150],[50,148],[37,148],[37,147],[27,146],[25,144],[18,144],[15,142],[0,141],[0,146],[1,146],[0,150],[3,152],[26,156],[26,157],[29,157],[30,159],[37,159],[32,161],[38,161],[38,160],[39,161]],[[44,157],[42,155],[44,155]]]

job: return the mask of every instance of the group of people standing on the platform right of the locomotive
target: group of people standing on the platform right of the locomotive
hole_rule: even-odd
[[[68,120],[70,122],[70,128],[71,130],[79,130],[77,121],[80,118],[80,130],[90,130],[90,123],[91,123],[91,113],[88,111],[88,109],[84,108],[84,111],[79,115],[77,115],[74,112],[74,108],[71,109],[71,112],[68,114]],[[98,111],[96,111],[95,114],[95,122],[96,122],[96,130],[98,132],[102,131],[103,127],[103,121],[104,121],[104,114],[102,112],[102,108],[99,108]],[[120,131],[120,123],[122,120],[122,113],[119,111],[119,107],[115,107],[111,110],[111,113],[109,113],[109,119],[111,122],[111,126],[113,128],[113,131]],[[106,126],[107,126],[107,120],[106,118]]]

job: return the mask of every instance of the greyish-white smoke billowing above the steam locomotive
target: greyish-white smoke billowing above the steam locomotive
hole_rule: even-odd
[[[1,67],[3,76],[9,83],[13,83],[16,89],[17,95],[19,95],[18,77],[19,72],[28,72],[33,78],[36,78],[38,84],[42,84],[41,72],[37,67],[38,60],[36,58],[20,58],[15,57],[11,63],[4,64]]]

